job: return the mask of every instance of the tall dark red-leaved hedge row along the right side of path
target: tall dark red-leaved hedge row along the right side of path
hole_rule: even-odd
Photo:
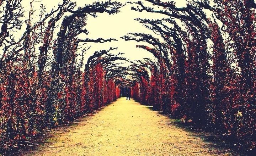
[[[213,18],[202,20],[202,23],[207,22],[207,28],[203,29],[209,30],[210,36],[192,25],[184,28],[181,37],[186,47],[184,51],[164,45],[171,51],[169,74],[165,74],[165,62],[157,50],[137,46],[154,54],[159,70],[151,71],[149,81],[140,78],[132,95],[175,117],[185,117],[185,122],[213,127],[235,138],[240,147],[253,149],[256,145],[256,18],[251,5],[254,2],[225,0],[214,3],[216,6],[206,9],[222,22],[222,29],[219,21],[211,21]],[[197,9],[193,5],[190,7]],[[169,11],[172,10],[169,7]],[[164,31],[161,33],[169,38]],[[206,36],[213,42],[211,47]],[[182,56],[183,53],[186,56]]]

